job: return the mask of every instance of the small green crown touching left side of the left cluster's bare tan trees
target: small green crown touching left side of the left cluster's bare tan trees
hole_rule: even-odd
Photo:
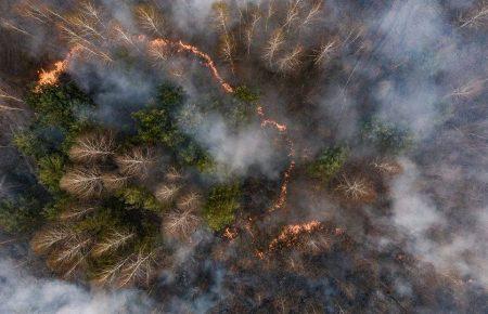
[[[65,158],[59,155],[42,157],[39,160],[39,182],[51,193],[60,192],[65,161]]]

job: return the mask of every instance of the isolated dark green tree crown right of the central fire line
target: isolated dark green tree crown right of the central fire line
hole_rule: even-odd
[[[344,147],[329,147],[307,167],[307,172],[310,176],[326,182],[337,173],[346,159],[347,151]]]

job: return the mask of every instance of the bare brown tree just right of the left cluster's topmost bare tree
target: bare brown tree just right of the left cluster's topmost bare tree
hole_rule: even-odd
[[[139,179],[145,179],[149,175],[155,161],[154,152],[151,148],[142,147],[134,147],[130,152],[115,157],[115,162],[123,174]]]

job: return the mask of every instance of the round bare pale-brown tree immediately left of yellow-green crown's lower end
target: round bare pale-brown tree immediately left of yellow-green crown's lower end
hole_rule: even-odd
[[[200,223],[200,217],[192,209],[175,209],[165,215],[163,231],[176,238],[187,239]]]

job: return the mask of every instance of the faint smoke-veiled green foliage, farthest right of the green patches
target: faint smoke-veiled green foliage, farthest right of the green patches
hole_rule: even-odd
[[[412,135],[400,126],[372,119],[363,125],[362,140],[382,154],[398,155],[412,144]]]

